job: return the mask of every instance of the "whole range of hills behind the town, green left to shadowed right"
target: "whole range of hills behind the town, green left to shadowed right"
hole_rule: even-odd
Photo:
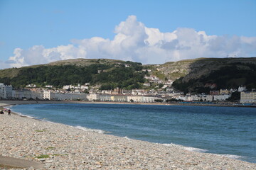
[[[147,69],[149,72],[142,72]],[[141,88],[151,74],[163,81],[173,80],[180,91],[208,92],[206,84],[217,84],[215,89],[256,88],[256,58],[198,58],[142,65],[137,62],[107,59],[74,59],[0,70],[0,82],[22,87],[28,84],[62,87],[67,84],[90,83],[101,89]]]

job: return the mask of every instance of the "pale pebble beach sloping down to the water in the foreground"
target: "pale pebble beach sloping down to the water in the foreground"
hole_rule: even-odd
[[[0,135],[1,156],[40,162],[43,169],[256,169],[256,164],[179,145],[131,140],[16,114],[0,115]]]

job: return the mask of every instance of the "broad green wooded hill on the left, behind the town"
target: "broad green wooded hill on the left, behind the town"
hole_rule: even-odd
[[[139,88],[144,82],[142,64],[137,62],[122,62],[117,60],[76,60],[61,61],[36,67],[5,69],[1,72],[0,82],[12,84],[18,88],[27,84],[62,87],[67,84],[100,84],[102,89]],[[101,62],[102,61],[102,62]],[[70,63],[70,64],[69,64]],[[125,65],[129,67],[125,67]],[[6,72],[16,70],[9,76]]]

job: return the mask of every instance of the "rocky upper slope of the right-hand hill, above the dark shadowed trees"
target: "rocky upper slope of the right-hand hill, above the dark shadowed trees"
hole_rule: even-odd
[[[154,66],[167,79],[176,80],[183,77],[184,82],[190,79],[199,79],[207,76],[221,67],[236,64],[240,69],[250,69],[243,64],[255,64],[256,57],[250,58],[198,58],[194,60],[181,60],[178,62],[167,62]]]

